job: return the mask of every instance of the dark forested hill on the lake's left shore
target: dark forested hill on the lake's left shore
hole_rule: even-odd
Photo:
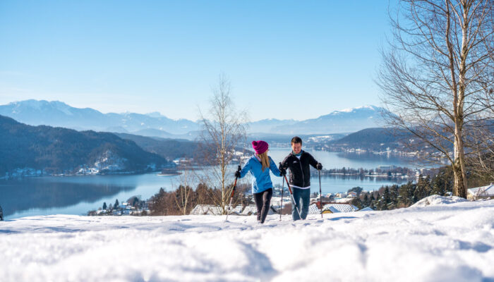
[[[0,136],[0,177],[28,168],[46,173],[72,174],[81,169],[121,173],[173,165],[112,133],[31,126],[0,116]]]

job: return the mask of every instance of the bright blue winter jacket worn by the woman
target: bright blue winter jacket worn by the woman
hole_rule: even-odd
[[[260,163],[257,157],[252,156],[251,159],[248,159],[247,163],[243,166],[240,171],[240,178],[246,176],[246,174],[250,171],[253,177],[252,180],[252,192],[260,193],[269,188],[272,188],[272,182],[270,177],[270,170],[275,176],[281,176],[279,169],[277,168],[275,161],[270,159],[270,168],[263,171],[263,164]]]

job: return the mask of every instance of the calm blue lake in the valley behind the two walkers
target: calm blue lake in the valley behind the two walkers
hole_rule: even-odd
[[[278,163],[289,148],[272,148],[270,157]],[[345,154],[312,151],[315,159],[325,168],[375,168],[380,165],[408,166],[407,159],[375,154]],[[232,173],[233,174],[233,173]],[[233,179],[233,176],[232,176]],[[282,178],[272,176],[273,184],[282,184]],[[179,176],[157,176],[157,173],[139,175],[108,176],[46,176],[16,180],[0,180],[0,206],[5,219],[49,214],[86,214],[91,209],[102,207],[103,202],[113,204],[116,199],[125,202],[140,195],[143,200],[158,192],[159,188],[174,190]],[[248,183],[250,180],[243,179]],[[360,178],[349,176],[323,176],[323,193],[346,192],[360,186],[364,190],[377,190],[382,185],[403,183],[405,180],[387,178]],[[286,184],[285,184],[286,185]],[[311,176],[311,190],[319,191],[317,175]]]

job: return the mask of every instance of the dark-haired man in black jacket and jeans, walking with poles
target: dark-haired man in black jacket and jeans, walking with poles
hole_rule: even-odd
[[[323,165],[316,161],[311,154],[302,150],[300,137],[291,138],[291,149],[291,153],[284,158],[279,166],[279,171],[286,175],[287,168],[290,169],[289,183],[294,192],[296,206],[299,207],[302,219],[306,219],[311,201],[311,169],[309,165],[318,170],[322,169]],[[294,221],[300,219],[295,207],[291,207],[291,217]]]

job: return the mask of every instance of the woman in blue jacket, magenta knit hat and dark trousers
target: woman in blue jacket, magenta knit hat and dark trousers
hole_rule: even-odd
[[[235,176],[243,178],[250,171],[254,177],[252,180],[252,194],[254,196],[255,206],[258,208],[258,221],[264,223],[267,212],[271,207],[272,182],[270,170],[275,176],[281,176],[275,161],[267,156],[268,145],[266,142],[259,140],[253,141],[252,147],[255,154],[248,159],[241,171],[237,171]]]

